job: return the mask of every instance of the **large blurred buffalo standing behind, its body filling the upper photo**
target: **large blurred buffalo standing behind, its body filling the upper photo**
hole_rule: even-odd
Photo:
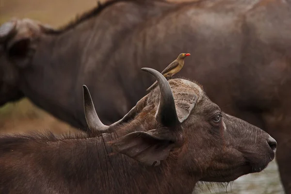
[[[179,72],[203,84],[226,113],[270,133],[291,193],[290,0],[113,0],[60,29],[29,19],[0,27],[0,104],[29,97],[86,129],[82,84],[92,88],[104,123],[113,123],[162,71],[189,52]]]

